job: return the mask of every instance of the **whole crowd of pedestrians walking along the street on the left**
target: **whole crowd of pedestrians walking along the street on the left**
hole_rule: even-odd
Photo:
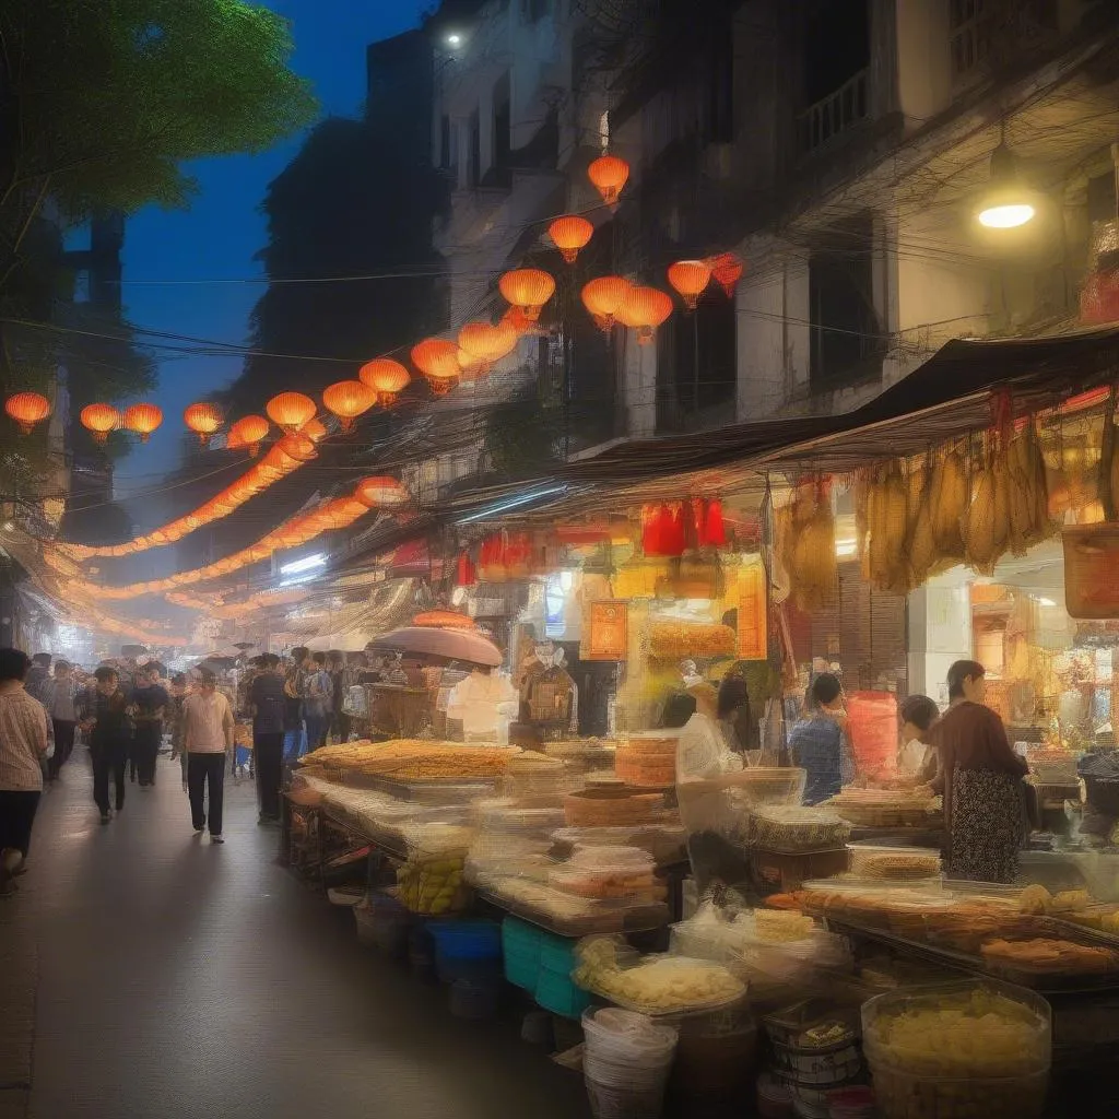
[[[285,761],[333,735],[350,735],[344,699],[354,684],[394,678],[398,668],[365,653],[291,650],[256,657],[226,686],[206,665],[172,674],[158,661],[122,658],[86,673],[40,652],[0,649],[0,893],[27,869],[31,829],[45,786],[58,781],[84,740],[93,799],[107,825],[131,782],[156,786],[169,741],[181,765],[195,833],[222,844],[225,777],[236,761],[236,724],[252,724],[251,767],[260,822],[280,819]]]

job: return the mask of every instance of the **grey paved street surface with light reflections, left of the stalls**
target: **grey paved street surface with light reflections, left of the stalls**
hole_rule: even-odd
[[[515,1022],[451,1017],[276,866],[247,782],[225,834],[194,836],[166,759],[102,827],[78,749],[0,903],[0,1119],[586,1115]]]

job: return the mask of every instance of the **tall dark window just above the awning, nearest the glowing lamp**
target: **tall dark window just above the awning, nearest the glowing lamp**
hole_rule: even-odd
[[[874,215],[827,235],[808,262],[809,380],[814,387],[881,374],[884,337],[874,305]]]

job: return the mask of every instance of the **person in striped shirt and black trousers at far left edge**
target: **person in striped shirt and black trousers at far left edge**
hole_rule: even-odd
[[[43,796],[47,713],[25,687],[31,667],[19,649],[0,649],[0,894],[26,869]]]

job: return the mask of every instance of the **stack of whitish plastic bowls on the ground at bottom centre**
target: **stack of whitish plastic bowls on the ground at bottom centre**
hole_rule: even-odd
[[[676,1055],[676,1031],[613,1007],[583,1014],[583,1073],[595,1119],[656,1119]]]

